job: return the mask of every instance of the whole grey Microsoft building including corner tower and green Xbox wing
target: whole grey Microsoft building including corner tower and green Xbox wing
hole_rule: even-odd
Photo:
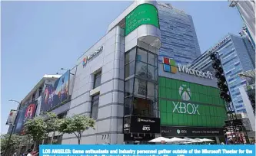
[[[211,73],[178,67],[169,58],[158,63],[156,5],[135,1],[78,58],[67,115],[96,120],[81,144],[223,135],[224,103]],[[65,134],[62,144],[77,144],[77,138]]]

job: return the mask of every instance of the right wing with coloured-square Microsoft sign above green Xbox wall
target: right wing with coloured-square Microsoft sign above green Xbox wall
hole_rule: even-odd
[[[165,57],[158,66],[161,136],[224,141],[226,110],[212,73]]]

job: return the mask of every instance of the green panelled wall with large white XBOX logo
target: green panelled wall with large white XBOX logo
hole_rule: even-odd
[[[219,89],[159,77],[161,125],[222,127],[226,119]]]

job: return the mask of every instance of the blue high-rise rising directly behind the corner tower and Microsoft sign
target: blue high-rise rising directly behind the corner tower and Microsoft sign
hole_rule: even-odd
[[[158,2],[158,17],[162,41],[159,62],[163,57],[170,57],[185,65],[201,55],[191,15]]]

